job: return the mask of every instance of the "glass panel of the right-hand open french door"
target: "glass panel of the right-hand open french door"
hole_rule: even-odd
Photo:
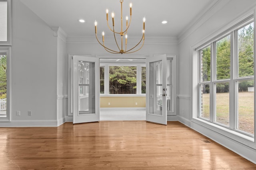
[[[149,66],[149,113],[162,113],[162,61],[152,62]]]

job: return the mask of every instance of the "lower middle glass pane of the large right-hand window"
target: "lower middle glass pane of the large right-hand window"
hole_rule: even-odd
[[[215,122],[229,126],[229,83],[216,83]]]

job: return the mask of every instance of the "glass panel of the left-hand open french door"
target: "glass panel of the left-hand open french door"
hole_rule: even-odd
[[[78,62],[78,114],[95,113],[95,68],[94,63]]]

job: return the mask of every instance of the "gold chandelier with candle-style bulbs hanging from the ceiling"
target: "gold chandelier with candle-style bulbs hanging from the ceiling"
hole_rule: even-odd
[[[129,21],[129,24],[128,24],[128,16],[126,16],[126,28],[124,29],[123,31],[123,7],[122,7],[122,3],[124,2],[124,0],[120,0],[120,3],[121,3],[121,31],[120,32],[116,32],[115,31],[115,24],[114,24],[114,12],[112,12],[111,16],[112,16],[112,25],[113,25],[113,29],[110,28],[109,24],[108,24],[108,9],[106,9],[106,18],[107,18],[107,24],[108,24],[108,28],[112,31],[112,33],[114,34],[114,39],[116,41],[116,45],[118,47],[118,51],[115,51],[115,50],[112,50],[108,47],[106,47],[104,45],[104,31],[102,32],[102,43],[100,43],[98,37],[97,37],[97,21],[94,22],[94,25],[95,25],[95,35],[96,35],[96,39],[97,41],[100,43],[100,45],[102,45],[104,47],[104,49],[106,51],[108,51],[109,53],[113,53],[113,54],[124,54],[124,53],[134,53],[136,51],[139,51],[143,45],[144,45],[144,33],[145,33],[145,18],[143,18],[143,31],[142,31],[142,38],[140,39],[140,41],[138,42],[137,45],[135,45],[134,47],[132,47],[131,49],[127,49],[127,31],[128,31],[128,28],[130,27],[130,23],[131,23],[131,20],[132,20],[132,3],[130,3],[130,21]],[[116,40],[116,35],[120,35],[120,38],[121,38],[121,45],[118,45],[118,42]],[[125,47],[123,45],[123,37],[125,36]],[[139,44],[142,45],[140,46],[140,48],[136,48]]]

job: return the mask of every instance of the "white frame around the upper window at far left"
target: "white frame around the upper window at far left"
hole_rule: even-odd
[[[0,41],[0,45],[12,45],[12,1],[7,1],[7,41]]]

